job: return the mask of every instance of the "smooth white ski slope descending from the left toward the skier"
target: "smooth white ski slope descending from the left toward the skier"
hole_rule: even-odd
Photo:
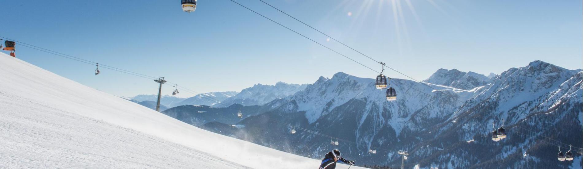
[[[3,53],[0,77],[0,168],[318,168],[320,164],[196,128]]]

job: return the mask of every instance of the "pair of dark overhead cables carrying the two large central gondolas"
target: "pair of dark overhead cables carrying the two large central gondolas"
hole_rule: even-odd
[[[233,1],[233,0],[230,0],[230,1]],[[336,38],[333,38],[333,37],[329,36],[328,34],[326,34],[326,33],[322,32],[322,31],[320,31],[320,30],[318,30],[318,29],[315,29],[314,27],[310,26],[309,24],[307,24],[307,23],[305,23],[305,22],[302,22],[301,20],[299,20],[299,19],[297,19],[296,17],[293,17],[293,16],[291,16],[291,15],[287,14],[286,12],[283,12],[282,10],[280,10],[280,9],[276,8],[275,6],[273,6],[273,5],[271,5],[271,4],[267,3],[267,2],[265,2],[265,1],[263,1],[263,0],[259,0],[259,1],[261,1],[261,2],[265,3],[266,5],[269,5],[269,6],[271,6],[271,8],[273,8],[273,9],[276,9],[276,10],[278,10],[279,12],[282,12],[283,14],[285,14],[285,15],[287,15],[287,16],[289,16],[289,17],[291,17],[291,18],[295,19],[295,20],[297,20],[297,22],[300,22],[300,23],[304,24],[305,26],[308,26],[308,27],[310,27],[311,29],[313,29],[313,30],[315,30],[315,31],[318,31],[319,33],[323,34],[324,36],[331,38],[332,40],[334,40],[334,41],[336,41],[336,42],[338,42],[338,43],[340,43],[340,44],[344,45],[345,47],[347,47],[347,48],[350,48],[351,50],[353,50],[353,51],[355,51],[355,52],[358,52],[359,54],[363,55],[364,57],[367,57],[368,59],[371,59],[371,60],[373,60],[374,62],[377,62],[378,64],[381,64],[383,67],[387,67],[387,68],[389,68],[389,69],[391,69],[391,70],[393,70],[393,71],[395,71],[395,72],[397,72],[397,73],[399,73],[399,74],[401,74],[401,75],[403,75],[403,76],[406,76],[406,77],[407,77],[407,78],[409,78],[409,79],[415,80],[415,82],[422,83],[422,82],[420,82],[419,80],[412,78],[411,76],[405,75],[405,73],[399,72],[399,71],[397,71],[397,70],[395,70],[395,69],[393,69],[393,68],[391,68],[391,67],[389,67],[389,66],[387,66],[387,65],[385,65],[385,64],[382,64],[382,62],[379,62],[379,61],[377,61],[376,59],[373,59],[373,58],[371,58],[371,57],[368,57],[368,55],[366,55],[366,54],[363,54],[363,52],[360,52],[360,51],[358,51],[358,50],[356,50],[356,49],[354,49],[354,48],[350,47],[349,45],[346,45],[345,43],[342,43],[341,41],[339,41],[339,40],[336,40]],[[233,1],[233,2],[234,2],[234,1]],[[237,3],[237,2],[235,2],[235,3]],[[237,4],[238,4],[238,5],[241,5],[240,3],[237,3]],[[241,5],[241,6],[243,6],[243,5]],[[244,7],[244,8],[247,8],[247,7],[245,7],[245,6],[243,6],[243,7]],[[247,9],[249,9],[249,8],[247,8]],[[251,10],[251,9],[249,9],[249,10]],[[251,10],[251,11],[252,11],[252,12],[255,12],[254,10]],[[255,13],[257,13],[257,12],[255,12]],[[257,13],[257,14],[258,14],[258,15],[261,15],[261,14],[259,14],[259,13]],[[261,15],[261,16],[265,17],[264,15]],[[265,17],[265,18],[266,18],[266,19],[269,19],[268,17]],[[271,20],[272,22],[275,22],[275,21],[274,21],[274,20],[272,20],[272,19],[269,19],[269,20]],[[279,24],[278,22],[275,22],[275,23]],[[283,26],[282,24],[279,24],[279,25],[280,25],[280,26]],[[283,26],[283,27],[286,27],[286,26]],[[286,27],[286,28],[287,28],[287,29],[289,29],[288,27]],[[291,30],[291,29],[289,29],[289,30]],[[294,31],[294,30],[291,30],[291,31]],[[294,31],[294,32],[295,32],[295,33],[297,33],[296,31]],[[297,33],[297,34],[300,34],[300,33]],[[300,34],[300,36],[303,36],[303,35],[302,35],[302,34]],[[305,36],[303,36],[303,37],[305,37]],[[305,38],[308,38],[308,37],[305,37]],[[310,39],[310,38],[308,38],[308,39]],[[310,39],[310,40],[311,40],[311,39]],[[311,40],[311,41],[314,41],[314,40]],[[315,43],[317,43],[316,41],[314,41],[314,42],[315,42]],[[318,44],[319,44],[319,45],[322,45],[322,44],[320,44],[320,43],[318,43]],[[324,46],[324,45],[322,45],[322,46]],[[324,46],[324,47],[325,47],[325,46]],[[328,48],[328,47],[326,47],[326,48]],[[328,48],[328,49],[330,49],[330,48]],[[330,49],[330,50],[331,50],[331,49]],[[333,50],[332,50],[332,51],[333,51]],[[335,52],[336,52],[336,51],[335,51]],[[336,52],[336,53],[338,53],[338,52]],[[340,55],[342,55],[342,54],[340,54]],[[343,55],[343,56],[344,56],[344,55]],[[346,56],[344,56],[344,57],[346,57]],[[350,59],[350,60],[352,60],[352,61],[354,61],[354,60],[353,60],[353,59],[351,59],[351,58],[349,58],[349,59]],[[356,62],[356,61],[355,61],[355,62]],[[360,64],[360,63],[359,63],[359,64]],[[362,64],[361,64],[361,65],[362,65]],[[364,65],[363,65],[363,66],[364,66]],[[367,67],[367,66],[366,66],[366,67]],[[367,68],[368,68],[368,67],[367,67]],[[370,69],[370,68],[368,68],[368,69]],[[373,71],[374,71],[374,70],[373,70]],[[377,72],[377,71],[375,71],[375,72]],[[377,72],[377,73],[379,73],[379,72]],[[380,74],[382,74],[382,73],[380,73]],[[387,77],[387,78],[389,78],[389,77]],[[392,78],[389,78],[389,79],[392,79]],[[436,91],[438,91],[438,92],[440,92],[440,93],[442,93],[442,94],[445,94],[445,93],[443,93],[442,91],[440,91],[440,90],[437,90],[437,89],[435,89],[435,88],[431,87],[429,84],[426,84],[426,83],[422,83],[422,84],[424,84],[425,86],[427,86],[427,87],[430,87],[431,89],[433,89],[433,90],[436,90]],[[419,91],[419,90],[417,90],[417,91]],[[419,92],[422,92],[422,91],[419,91]],[[422,92],[422,93],[423,93],[423,92]],[[427,94],[427,93],[425,93],[425,94]],[[428,94],[428,95],[429,95],[429,94]],[[465,102],[463,102],[463,101],[459,100],[458,98],[455,98],[455,97],[453,97],[453,96],[450,96],[449,94],[445,94],[445,96],[448,96],[448,97],[454,98],[455,100],[459,101],[459,102],[460,102],[460,103],[462,103],[462,104],[463,104],[463,103],[465,103]]]

